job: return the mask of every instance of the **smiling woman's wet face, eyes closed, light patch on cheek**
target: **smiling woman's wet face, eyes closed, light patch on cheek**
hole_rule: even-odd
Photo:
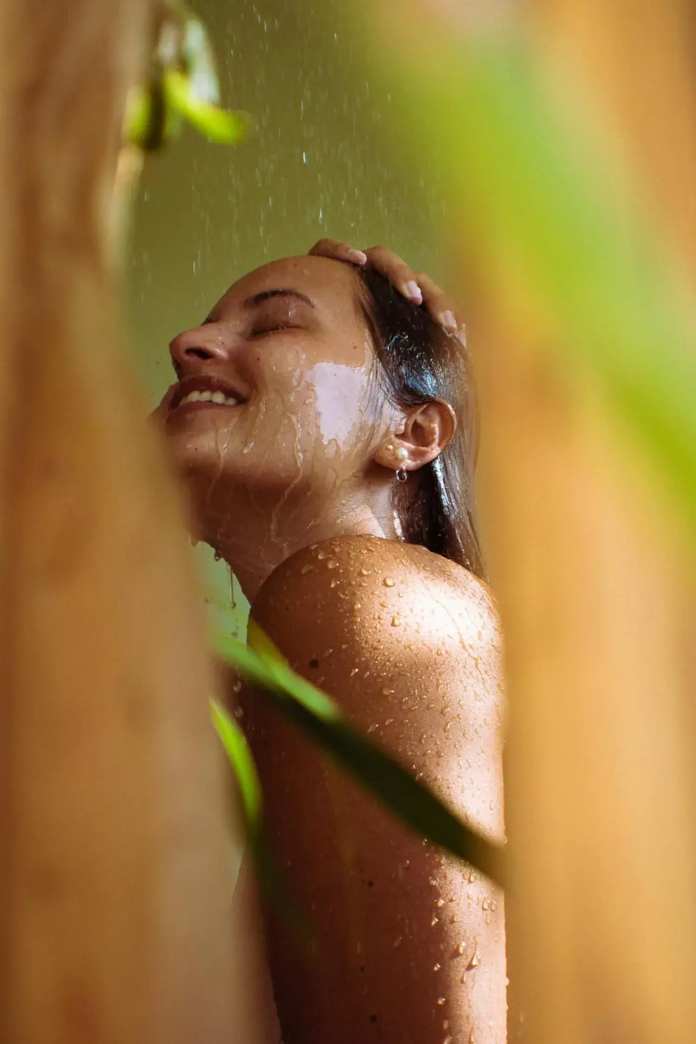
[[[327,258],[274,261],[172,340],[167,440],[210,524],[240,498],[287,516],[364,480],[386,418],[370,396],[357,279]]]

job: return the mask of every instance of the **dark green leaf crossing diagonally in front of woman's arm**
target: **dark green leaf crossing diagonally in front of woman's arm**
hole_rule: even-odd
[[[461,823],[390,754],[343,717],[339,707],[296,674],[256,624],[253,647],[217,634],[215,651],[254,682],[272,705],[316,746],[330,754],[385,807],[423,837],[504,883],[504,856]]]

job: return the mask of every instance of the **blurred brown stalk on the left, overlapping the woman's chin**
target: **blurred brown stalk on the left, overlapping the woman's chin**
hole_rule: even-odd
[[[181,508],[110,242],[145,0],[0,4],[0,1039],[253,1040]]]

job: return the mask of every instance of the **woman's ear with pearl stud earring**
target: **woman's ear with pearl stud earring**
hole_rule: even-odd
[[[449,402],[434,399],[412,406],[399,432],[382,440],[375,460],[394,471],[416,471],[440,455],[456,430],[457,418]]]

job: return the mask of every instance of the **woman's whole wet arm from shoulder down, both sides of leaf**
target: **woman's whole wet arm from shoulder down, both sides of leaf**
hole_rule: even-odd
[[[383,550],[395,553],[341,542],[321,559],[295,555],[255,618],[299,673],[500,837],[489,598],[473,578],[448,586],[425,560],[385,568]],[[320,965],[304,968],[282,928],[271,932],[288,1039],[296,1026],[303,1042],[347,1044],[377,1022],[384,1042],[429,1040],[446,1023],[454,1039],[473,1029],[477,1040],[503,1041],[502,904],[488,882],[424,845],[258,699],[250,720],[272,840],[327,948]]]

